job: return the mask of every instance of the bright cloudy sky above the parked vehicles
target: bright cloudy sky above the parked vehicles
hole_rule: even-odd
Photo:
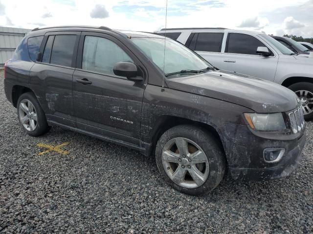
[[[0,26],[94,25],[153,32],[166,0],[0,0]],[[168,0],[167,28],[225,27],[313,37],[313,0]]]

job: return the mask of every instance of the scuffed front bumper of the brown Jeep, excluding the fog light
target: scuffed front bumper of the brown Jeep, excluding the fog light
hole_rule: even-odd
[[[299,165],[306,134],[291,139],[267,139],[254,135],[247,126],[231,126],[222,137],[228,171],[234,179],[266,181],[289,176]],[[224,126],[225,128],[225,126]],[[221,129],[220,129],[221,130]],[[263,157],[266,148],[284,148],[285,154],[276,163],[267,163]]]

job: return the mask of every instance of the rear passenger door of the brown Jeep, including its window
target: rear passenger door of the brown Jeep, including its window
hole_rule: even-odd
[[[32,67],[30,86],[36,91],[47,120],[75,126],[73,73],[80,32],[46,33],[40,52],[43,60]]]

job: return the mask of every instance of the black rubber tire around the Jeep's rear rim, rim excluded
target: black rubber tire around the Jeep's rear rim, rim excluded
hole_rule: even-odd
[[[20,107],[20,103],[23,99],[30,100],[34,105],[34,108],[35,108],[35,111],[37,114],[37,127],[34,131],[28,131],[27,129],[24,128],[24,126],[21,123],[19,107]],[[33,136],[33,137],[38,137],[38,136],[45,134],[49,130],[49,126],[47,124],[45,113],[44,113],[42,107],[40,106],[40,103],[38,102],[37,98],[35,97],[35,95],[33,93],[24,93],[20,96],[20,98],[18,99],[18,102],[17,102],[17,113],[18,113],[18,119],[19,119],[19,122],[22,126],[22,129],[28,135]]]

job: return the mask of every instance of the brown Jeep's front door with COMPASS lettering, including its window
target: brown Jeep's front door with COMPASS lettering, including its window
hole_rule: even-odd
[[[94,38],[99,39],[95,42]],[[109,44],[99,46],[101,43]],[[139,144],[145,82],[117,77],[112,72],[116,61],[132,59],[135,64],[139,61],[113,37],[88,32],[82,34],[79,56],[78,66],[84,69],[78,68],[73,74],[77,127],[119,139],[124,136],[125,141]]]

